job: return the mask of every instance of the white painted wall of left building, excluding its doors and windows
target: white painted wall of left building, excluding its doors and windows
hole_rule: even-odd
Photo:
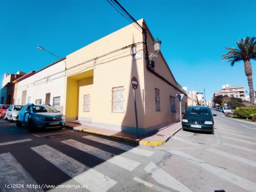
[[[64,86],[65,86],[65,72],[56,74],[52,77],[49,77],[47,80],[47,76],[51,76],[54,73],[58,73],[65,70],[65,62],[60,61],[48,68],[35,73],[34,75],[21,80],[16,83],[14,86],[14,96],[15,104],[17,104],[18,99],[22,98],[22,91],[27,90],[26,96],[26,104],[27,99],[30,97],[30,102],[35,103],[36,99],[42,99],[42,104],[45,104],[46,93],[51,93],[50,95],[50,105],[53,105],[54,97],[61,97],[61,109],[64,105]]]

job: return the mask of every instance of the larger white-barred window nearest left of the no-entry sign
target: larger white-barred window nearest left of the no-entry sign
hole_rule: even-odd
[[[124,112],[123,86],[112,88],[112,112]]]

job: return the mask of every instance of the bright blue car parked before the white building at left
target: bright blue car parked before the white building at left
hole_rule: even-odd
[[[16,126],[28,126],[29,131],[42,128],[62,128],[65,116],[50,105],[27,104],[19,111]]]

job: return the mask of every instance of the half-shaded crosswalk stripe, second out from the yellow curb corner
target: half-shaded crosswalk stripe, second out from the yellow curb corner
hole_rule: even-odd
[[[120,166],[124,169],[127,169],[128,171],[134,170],[137,166],[139,166],[141,164],[137,161],[127,159],[127,158],[121,157],[119,155],[115,155],[111,152],[103,151],[103,150],[101,150],[99,148],[96,148],[94,146],[86,145],[86,144],[81,143],[79,141],[76,141],[74,139],[68,139],[68,140],[61,141],[61,142],[65,143],[69,146],[72,146],[76,149],[79,149],[83,152],[87,152],[91,155],[94,155],[94,156],[96,156],[100,159],[103,159],[103,160],[105,160],[109,163],[112,163],[116,166]]]

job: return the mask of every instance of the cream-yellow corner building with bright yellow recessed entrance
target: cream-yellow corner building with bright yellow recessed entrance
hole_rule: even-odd
[[[138,23],[147,31],[148,52],[155,53],[154,38],[143,19]],[[135,55],[131,48],[135,47]],[[131,76],[138,79],[136,89],[138,127],[141,134],[154,132],[180,119],[176,94],[182,88],[171,73],[162,53],[153,58],[148,70],[145,35],[132,24],[85,46],[66,57],[65,101],[67,120],[126,132],[136,131]],[[182,112],[187,103],[182,99]]]

